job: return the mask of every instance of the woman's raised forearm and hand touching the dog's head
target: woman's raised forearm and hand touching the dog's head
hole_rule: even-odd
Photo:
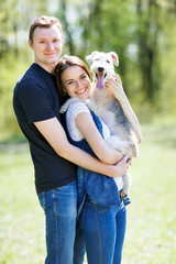
[[[125,117],[130,121],[130,123],[136,134],[139,143],[141,143],[142,142],[142,133],[141,133],[139,120],[129,102],[128,97],[124,94],[119,75],[114,75],[113,77],[116,79],[111,78],[111,79],[107,80],[106,86],[110,89],[110,91],[112,91],[114,98],[120,102]]]

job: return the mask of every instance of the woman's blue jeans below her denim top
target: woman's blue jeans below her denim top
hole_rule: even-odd
[[[127,211],[120,206],[97,206],[86,199],[79,216],[84,229],[89,264],[120,264],[124,241]]]

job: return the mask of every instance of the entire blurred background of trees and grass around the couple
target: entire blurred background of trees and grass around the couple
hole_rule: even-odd
[[[0,264],[41,264],[44,216],[29,147],[12,109],[33,63],[30,24],[63,24],[63,54],[116,52],[143,143],[133,161],[123,264],[176,263],[176,0],[0,0]],[[108,263],[107,263],[108,264]]]

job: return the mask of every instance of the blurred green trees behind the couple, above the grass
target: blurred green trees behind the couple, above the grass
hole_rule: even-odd
[[[33,62],[31,22],[57,16],[63,54],[84,61],[92,51],[119,55],[123,87],[141,122],[176,113],[176,0],[0,0],[0,133],[18,132],[12,111],[16,79]]]

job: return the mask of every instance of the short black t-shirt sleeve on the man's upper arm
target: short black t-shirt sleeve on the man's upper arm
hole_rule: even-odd
[[[35,81],[23,81],[18,89],[18,99],[23,107],[29,123],[55,117],[50,94]]]

